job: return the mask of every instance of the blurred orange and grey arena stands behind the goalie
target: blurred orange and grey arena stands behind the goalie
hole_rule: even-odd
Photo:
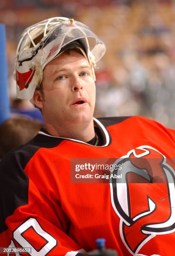
[[[85,23],[107,46],[97,63],[95,117],[142,115],[175,128],[174,0],[0,0],[12,111],[28,115],[32,109],[29,102],[15,100],[13,67],[20,35],[56,16]]]

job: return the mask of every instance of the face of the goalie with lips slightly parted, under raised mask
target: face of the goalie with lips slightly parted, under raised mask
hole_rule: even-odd
[[[42,109],[45,123],[92,121],[95,108],[95,82],[92,69],[77,51],[62,53],[50,61],[43,71],[43,92],[37,107]],[[34,101],[37,99],[36,91]]]

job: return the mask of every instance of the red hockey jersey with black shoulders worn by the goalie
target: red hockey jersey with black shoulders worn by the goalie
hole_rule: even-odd
[[[119,256],[174,255],[175,131],[140,117],[94,122],[103,146],[40,131],[0,162],[0,247],[73,256],[102,237]],[[95,171],[97,159],[118,167]]]

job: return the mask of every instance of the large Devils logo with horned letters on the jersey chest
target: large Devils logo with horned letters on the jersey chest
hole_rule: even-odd
[[[122,179],[111,180],[112,206],[120,217],[122,241],[135,254],[154,236],[175,231],[173,160],[140,146],[114,164],[122,164],[114,171]]]

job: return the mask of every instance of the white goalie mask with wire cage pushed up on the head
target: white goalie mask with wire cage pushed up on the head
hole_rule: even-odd
[[[92,46],[90,38],[94,41]],[[71,47],[81,50],[91,65],[95,65],[105,54],[105,44],[100,38],[83,23],[73,19],[50,18],[25,29],[15,58],[18,98],[32,99],[35,88],[39,88],[42,82],[45,66],[65,51],[70,43]]]

